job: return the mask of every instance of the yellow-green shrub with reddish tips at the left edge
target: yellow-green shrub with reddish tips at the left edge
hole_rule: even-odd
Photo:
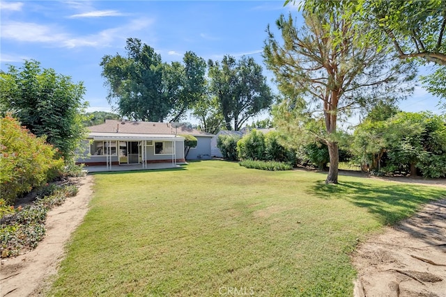
[[[6,115],[0,118],[0,193],[7,204],[59,175],[57,150]]]

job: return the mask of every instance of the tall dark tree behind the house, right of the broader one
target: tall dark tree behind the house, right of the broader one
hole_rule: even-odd
[[[249,118],[270,107],[273,95],[254,58],[243,57],[238,62],[224,56],[222,63],[208,61],[210,92],[217,97],[226,129],[238,131]]]

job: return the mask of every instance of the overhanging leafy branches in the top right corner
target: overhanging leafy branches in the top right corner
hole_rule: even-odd
[[[285,1],[289,3],[290,0]],[[358,35],[362,40],[373,40],[380,47],[383,40],[392,42],[401,59],[414,58],[419,63],[435,63],[437,69],[422,77],[426,89],[433,95],[446,97],[446,1],[397,1],[397,0],[345,0],[305,1],[303,10],[329,13],[344,6],[344,17],[369,26],[367,33]],[[354,13],[353,13],[354,12]]]

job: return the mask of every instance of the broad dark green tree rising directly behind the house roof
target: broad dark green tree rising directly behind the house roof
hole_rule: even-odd
[[[109,103],[134,120],[178,122],[206,90],[206,62],[187,51],[183,63],[162,63],[155,49],[128,38],[127,57],[102,57]]]

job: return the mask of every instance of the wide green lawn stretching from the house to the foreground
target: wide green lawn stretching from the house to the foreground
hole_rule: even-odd
[[[95,175],[55,296],[352,296],[349,253],[442,188],[225,161]]]

